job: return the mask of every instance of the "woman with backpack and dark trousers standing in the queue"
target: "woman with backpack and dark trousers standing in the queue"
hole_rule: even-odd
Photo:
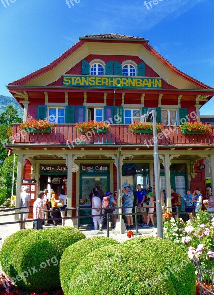
[[[112,204],[117,205],[117,202],[114,200],[113,197],[111,197],[111,195],[112,193],[110,191],[107,191],[106,196],[103,198],[103,201],[102,201],[102,219],[101,219],[100,227],[99,227],[100,232],[102,231],[103,223],[105,223],[107,220],[107,213],[110,213],[110,214],[113,213]],[[110,221],[109,221],[110,231],[114,229],[114,227],[112,226],[112,222],[114,222],[113,216],[110,215]]]

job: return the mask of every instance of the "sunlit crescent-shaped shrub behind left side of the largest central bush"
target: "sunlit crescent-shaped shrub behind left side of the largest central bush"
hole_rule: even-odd
[[[119,242],[112,238],[95,236],[92,238],[81,240],[68,247],[64,251],[60,260],[60,281],[65,294],[71,294],[69,293],[71,292],[69,290],[70,280],[75,267],[80,263],[80,261],[83,258],[87,257],[88,254],[95,249],[108,245],[119,245]]]

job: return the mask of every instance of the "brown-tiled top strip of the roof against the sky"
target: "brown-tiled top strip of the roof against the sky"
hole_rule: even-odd
[[[119,34],[101,34],[101,35],[85,35],[84,37],[80,37],[79,40],[106,40],[106,39],[113,39],[113,40],[131,40],[131,41],[144,41],[149,42],[149,40],[145,40],[143,37],[133,37],[128,35],[119,35]]]

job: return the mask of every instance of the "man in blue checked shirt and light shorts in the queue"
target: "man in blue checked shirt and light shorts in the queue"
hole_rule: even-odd
[[[126,221],[127,221],[127,225],[126,225],[126,229],[133,229],[133,216],[131,215],[132,213],[132,208],[129,207],[133,207],[133,203],[134,203],[134,194],[131,190],[130,185],[126,186],[125,188],[122,187],[122,191],[124,192],[124,195],[122,197],[123,199],[123,213],[127,214],[125,215],[126,217]]]

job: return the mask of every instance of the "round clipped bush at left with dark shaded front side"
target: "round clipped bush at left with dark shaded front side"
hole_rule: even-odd
[[[60,287],[59,262],[63,251],[85,236],[74,228],[33,231],[16,244],[10,256],[10,273],[18,287],[49,291]]]

